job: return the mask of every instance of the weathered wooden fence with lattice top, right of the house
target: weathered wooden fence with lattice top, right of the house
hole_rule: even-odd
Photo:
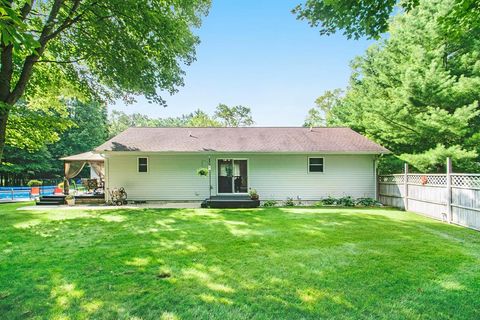
[[[378,177],[381,203],[480,230],[480,174],[403,174]]]

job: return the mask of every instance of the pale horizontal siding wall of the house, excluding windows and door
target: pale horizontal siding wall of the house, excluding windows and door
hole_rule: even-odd
[[[144,154],[149,171],[137,172],[139,155],[107,155],[107,188],[124,187],[130,200],[201,200],[208,196],[208,177],[196,174],[208,164],[208,155]],[[308,172],[308,157],[324,157],[324,173]],[[216,194],[216,159],[248,159],[249,187],[261,199],[287,197],[318,200],[327,196],[374,197],[372,155],[215,154],[212,159],[212,195]]]

